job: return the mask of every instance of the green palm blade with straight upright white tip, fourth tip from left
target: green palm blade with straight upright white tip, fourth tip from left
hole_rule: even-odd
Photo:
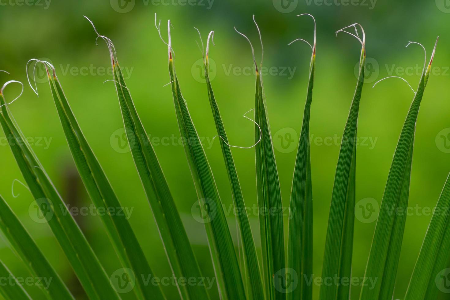
[[[169,73],[171,77],[172,94],[175,103],[175,112],[178,119],[181,136],[190,141],[185,144],[184,151],[189,162],[191,174],[197,189],[199,204],[207,216],[205,227],[208,234],[208,242],[218,282],[220,293],[226,299],[246,299],[243,281],[239,270],[233,240],[229,232],[225,213],[217,191],[216,182],[212,175],[211,167],[207,161],[202,143],[195,130],[191,116],[189,115],[186,101],[181,91],[180,83],[175,74],[175,65],[172,59],[170,20],[168,21],[169,34]]]

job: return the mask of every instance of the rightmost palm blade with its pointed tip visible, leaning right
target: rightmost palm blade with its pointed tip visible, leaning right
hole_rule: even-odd
[[[376,283],[374,286],[363,285],[360,294],[361,300],[391,299],[394,292],[406,221],[406,214],[397,214],[396,211],[398,209],[405,211],[408,205],[415,125],[423,91],[430,75],[436,45],[428,67],[424,65],[419,87],[406,116],[394,153],[365,271],[365,279],[376,280]],[[425,57],[425,63],[426,59]]]

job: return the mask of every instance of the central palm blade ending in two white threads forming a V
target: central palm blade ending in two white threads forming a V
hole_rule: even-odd
[[[253,16],[262,49],[261,32]],[[235,29],[236,30],[236,29]],[[236,30],[237,31],[237,30]],[[285,278],[285,256],[284,256],[284,225],[281,191],[279,185],[278,171],[275,163],[275,152],[270,134],[269,118],[267,116],[266,98],[262,77],[258,71],[258,66],[254,57],[254,49],[250,40],[253,54],[253,63],[256,70],[256,93],[255,93],[255,156],[256,156],[256,178],[258,206],[261,211],[267,214],[260,214],[260,232],[262,248],[262,274],[268,299],[286,298],[286,278]],[[262,61],[261,61],[262,67]]]

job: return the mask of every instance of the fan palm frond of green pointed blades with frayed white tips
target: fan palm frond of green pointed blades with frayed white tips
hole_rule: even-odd
[[[311,16],[311,15],[310,15]],[[311,16],[312,17],[312,16]],[[155,16],[156,21],[156,16]],[[254,18],[253,21],[255,22]],[[91,22],[92,23],[92,22]],[[156,25],[156,22],[155,22]],[[279,173],[275,162],[275,152],[270,133],[269,117],[266,108],[266,98],[261,75],[262,61],[256,68],[255,93],[255,148],[257,200],[261,234],[261,262],[246,214],[239,214],[237,221],[239,235],[242,241],[243,268],[239,267],[236,249],[229,230],[229,224],[220,200],[215,179],[207,156],[193,120],[189,114],[187,103],[181,94],[180,82],[175,72],[174,52],[172,49],[170,21],[168,22],[168,66],[171,79],[171,90],[175,105],[180,135],[189,143],[184,144],[184,151],[190,167],[193,184],[198,195],[198,213],[202,214],[207,233],[207,242],[215,271],[220,299],[225,300],[311,300],[312,286],[307,279],[312,279],[313,264],[313,228],[312,228],[312,180],[311,180],[311,149],[310,149],[310,116],[313,86],[315,80],[315,50],[316,40],[310,45],[312,49],[307,83],[306,104],[303,112],[302,129],[298,142],[297,155],[293,172],[292,191],[290,197],[290,215],[288,224],[287,256],[285,257],[284,220],[280,210],[283,208]],[[257,26],[256,22],[255,25]],[[362,31],[359,36],[357,26]],[[354,27],[356,33],[346,31]],[[346,32],[356,37],[361,45],[358,81],[350,107],[350,113],[342,135],[342,141],[336,173],[334,178],[331,208],[329,212],[328,231],[325,241],[322,279],[351,278],[354,210],[356,197],[356,143],[357,122],[360,99],[365,79],[365,34],[359,24],[353,24],[338,32]],[[159,26],[157,26],[159,31]],[[94,28],[95,30],[95,28]],[[259,37],[261,32],[257,26]],[[156,153],[144,129],[130,90],[126,86],[122,69],[117,61],[116,50],[111,40],[105,40],[112,66],[112,81],[117,91],[124,130],[129,141],[130,151],[142,182],[144,192],[164,245],[171,273],[175,278],[202,278],[193,248],[184,229],[180,213],[175,206],[162,168]],[[234,146],[229,145],[225,125],[221,118],[219,107],[210,81],[209,43],[214,31],[207,40],[203,63],[207,96],[212,115],[220,137],[221,152],[225,161],[234,206],[239,211],[246,211],[238,172],[231,152]],[[250,40],[244,36],[248,42]],[[160,34],[161,36],[161,34]],[[297,39],[300,40],[300,39]],[[303,40],[305,41],[305,40]],[[415,124],[424,89],[431,72],[435,48],[428,63],[425,64],[419,87],[415,92],[413,102],[400,134],[391,169],[387,178],[381,205],[396,209],[405,209],[408,205],[412,153],[414,145]],[[264,50],[262,53],[264,53]],[[262,55],[263,56],[263,55]],[[97,209],[107,207],[122,207],[112,185],[109,183],[99,161],[90,148],[84,134],[78,125],[75,115],[69,106],[63,88],[56,76],[54,67],[43,61],[48,75],[50,91],[57,108],[58,116],[67,139],[68,146],[79,171],[83,184]],[[34,197],[40,213],[48,223],[56,240],[81,282],[89,299],[119,300],[119,291],[112,283],[103,266],[100,264],[90,244],[81,229],[76,224],[63,199],[59,196],[44,167],[24,138],[24,134],[9,112],[3,89],[0,90],[0,125],[3,128],[9,146],[13,152],[18,167],[28,188]],[[89,94],[86,94],[88,97]],[[244,147],[239,147],[244,148]],[[437,208],[444,209],[450,205],[450,176],[437,202]],[[389,213],[392,210],[380,210],[376,224],[374,239],[369,253],[365,278],[374,280],[374,287],[362,285],[361,300],[392,299],[395,279],[400,259],[401,243],[405,228],[406,215]],[[133,293],[126,295],[132,299],[166,299],[161,285],[145,282],[146,275],[153,275],[146,259],[146,253],[139,245],[135,232],[131,228],[126,215],[101,215],[101,220],[112,246],[117,253],[121,265],[131,269],[135,275],[136,287]],[[433,215],[427,234],[423,241],[419,258],[414,267],[406,300],[436,299],[439,276],[446,269],[449,259],[450,218],[448,215]],[[28,271],[36,277],[52,278],[51,285],[42,289],[42,299],[59,300],[74,299],[64,282],[49,264],[27,229],[19,221],[17,215],[0,197],[0,229],[12,245],[15,254],[23,260]],[[27,291],[14,279],[14,275],[0,260],[0,278],[13,278],[13,284],[2,285],[0,294],[6,300],[31,299]],[[351,285],[324,284],[318,295],[320,300],[350,299]],[[174,284],[180,299],[208,300],[209,292],[201,284]],[[127,298],[128,299],[128,298]]]

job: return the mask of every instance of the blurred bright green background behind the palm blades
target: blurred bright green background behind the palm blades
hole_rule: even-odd
[[[314,276],[320,277],[324,253],[333,179],[339,152],[339,137],[347,119],[356,85],[355,66],[360,44],[346,34],[336,38],[335,31],[359,22],[365,28],[368,74],[360,103],[357,148],[356,201],[374,198],[381,202],[387,174],[401,127],[413,93],[399,79],[378,84],[385,76],[403,76],[415,87],[423,65],[423,50],[417,45],[405,48],[408,41],[422,43],[428,50],[439,35],[433,73],[425,91],[414,144],[414,157],[409,205],[418,206],[406,219],[401,260],[396,280],[395,299],[402,299],[419,254],[431,216],[423,207],[435,206],[446,176],[450,171],[450,7],[447,0],[387,1],[365,0],[290,0],[281,2],[240,0],[90,0],[50,2],[2,0],[0,26],[0,73],[2,82],[18,80],[25,83],[20,99],[9,106],[23,133],[32,145],[64,200],[71,206],[89,206],[90,199],[77,175],[63,135],[48,85],[37,68],[39,98],[27,85],[26,63],[30,58],[48,58],[56,67],[72,109],[86,138],[103,165],[122,205],[133,208],[130,222],[141,242],[155,276],[170,276],[162,243],[151,209],[129,152],[119,147],[122,127],[117,96],[112,82],[108,51],[102,40],[95,45],[95,33],[83,15],[88,16],[100,34],[115,43],[117,57],[126,68],[127,84],[133,95],[140,118],[151,138],[162,168],[179,208],[199,264],[206,276],[213,276],[203,224],[191,214],[197,201],[193,181],[178,142],[164,145],[163,137],[179,137],[167,69],[167,49],[154,27],[154,13],[162,19],[162,34],[166,38],[166,20],[173,24],[172,42],[175,63],[184,98],[198,134],[205,138],[205,151],[210,161],[221,199],[226,207],[232,204],[229,183],[221,156],[206,85],[200,76],[202,54],[198,49],[197,27],[206,42],[207,33],[215,31],[215,44],[210,58],[216,67],[212,85],[220,107],[230,143],[251,146],[254,124],[243,118],[254,106],[255,77],[250,47],[233,29],[248,35],[261,57],[252,14],[261,28],[264,42],[264,66],[270,72],[264,76],[266,101],[274,139],[283,203],[288,206],[297,135],[306,97],[311,49],[296,38],[313,39],[313,23],[299,13],[311,13],[317,21],[317,54],[314,98],[311,111],[311,165],[314,201]],[[22,5],[20,5],[22,4]],[[192,5],[194,4],[194,5]],[[347,4],[347,5],[345,5]],[[356,5],[355,5],[356,4]],[[410,67],[410,68],[407,68]],[[411,68],[412,67],[412,68]],[[19,85],[5,89],[12,100],[20,92]],[[250,113],[248,116],[252,116]],[[118,131],[117,131],[118,130]],[[19,215],[31,235],[47,255],[78,299],[85,296],[73,275],[53,234],[46,224],[34,222],[29,214],[31,194],[21,184],[11,186],[14,179],[24,181],[14,161],[4,135],[0,136],[0,193]],[[321,142],[326,139],[328,142]],[[330,142],[330,139],[333,142]],[[176,139],[175,139],[176,140]],[[334,142],[337,140],[338,142]],[[233,149],[240,182],[247,206],[256,199],[255,159],[253,149]],[[416,210],[414,210],[416,211]],[[108,274],[120,268],[112,246],[97,215],[76,216],[87,239],[99,256]],[[257,215],[250,216],[258,247],[260,244]],[[288,218],[285,217],[287,234]],[[370,244],[376,222],[355,220],[353,276],[364,276]],[[229,227],[237,241],[236,223],[229,214]],[[0,255],[16,276],[29,276],[25,266],[14,255],[3,238]],[[260,260],[261,261],[261,260]],[[318,298],[319,286],[314,287]],[[35,287],[26,287],[39,299]],[[178,299],[175,287],[163,287],[167,299]],[[352,298],[359,298],[360,286],[352,287]],[[447,294],[448,295],[448,294]],[[441,294],[441,299],[449,299]],[[124,299],[132,295],[124,295]],[[211,296],[217,297],[216,288]]]

